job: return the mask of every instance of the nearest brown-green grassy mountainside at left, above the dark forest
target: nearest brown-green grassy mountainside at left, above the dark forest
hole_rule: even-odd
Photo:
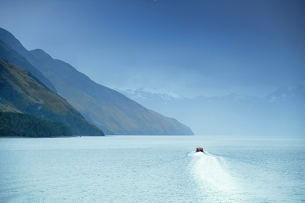
[[[104,135],[29,71],[0,57],[0,110],[63,122],[74,135]]]

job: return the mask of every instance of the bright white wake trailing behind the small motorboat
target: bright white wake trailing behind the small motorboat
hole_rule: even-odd
[[[208,152],[190,153],[193,175],[197,188],[205,201],[242,201],[235,177],[231,176],[222,157],[214,156]]]

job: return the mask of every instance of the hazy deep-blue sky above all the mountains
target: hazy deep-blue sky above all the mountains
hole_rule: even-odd
[[[264,97],[305,85],[304,0],[0,0],[0,27],[110,88]]]

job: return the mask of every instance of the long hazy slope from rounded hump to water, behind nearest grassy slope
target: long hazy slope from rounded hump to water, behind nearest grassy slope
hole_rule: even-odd
[[[119,92],[97,84],[70,64],[55,60],[43,50],[30,51],[52,67],[40,70],[86,119],[106,134],[193,135],[191,129],[175,119],[144,108]]]

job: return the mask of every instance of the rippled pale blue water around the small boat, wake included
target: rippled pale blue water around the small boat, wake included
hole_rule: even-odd
[[[0,167],[0,202],[305,202],[304,137],[1,138]]]

